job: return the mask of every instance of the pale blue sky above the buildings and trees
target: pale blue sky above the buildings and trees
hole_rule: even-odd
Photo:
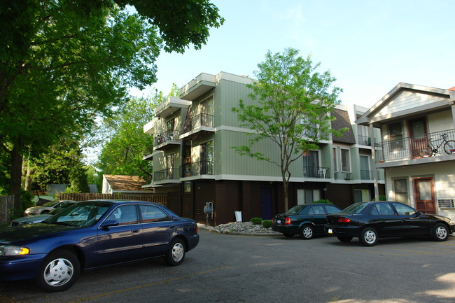
[[[225,18],[201,50],[162,51],[158,82],[168,94],[200,73],[254,78],[267,51],[300,50],[321,62],[342,104],[373,106],[398,83],[455,86],[454,0],[212,0]],[[147,97],[152,88],[136,96]]]

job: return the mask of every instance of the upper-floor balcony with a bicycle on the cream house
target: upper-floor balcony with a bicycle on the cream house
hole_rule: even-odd
[[[455,129],[375,144],[379,167],[455,160]],[[451,141],[447,143],[447,141]],[[389,163],[389,164],[387,164]]]

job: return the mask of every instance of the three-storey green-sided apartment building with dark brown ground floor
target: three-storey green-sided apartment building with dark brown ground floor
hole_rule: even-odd
[[[232,146],[248,144],[251,129],[241,127],[232,107],[248,97],[251,78],[221,72],[201,73],[184,85],[180,96],[155,108],[155,118],[144,125],[154,136],[152,151],[144,160],[153,161],[153,181],[145,188],[169,194],[169,206],[181,216],[200,223],[219,225],[235,220],[270,219],[281,213],[281,172],[268,162],[235,153]],[[332,127],[348,127],[342,137],[318,143],[291,167],[289,207],[318,199],[339,206],[385,195],[384,175],[372,161],[368,127],[353,123],[367,108],[338,106]],[[381,140],[379,129],[374,130]],[[260,150],[276,150],[262,141]],[[278,157],[277,151],[274,155]],[[206,205],[213,211],[204,213]]]

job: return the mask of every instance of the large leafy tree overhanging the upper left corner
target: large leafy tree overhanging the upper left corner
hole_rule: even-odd
[[[127,87],[155,82],[161,48],[200,48],[209,28],[223,24],[208,1],[184,2],[0,2],[0,181],[9,181],[16,209],[23,155],[36,157],[74,129],[86,131],[96,115],[125,101]]]

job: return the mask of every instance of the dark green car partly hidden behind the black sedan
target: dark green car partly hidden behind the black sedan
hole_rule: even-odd
[[[300,234],[303,239],[311,239],[314,234],[324,234],[325,219],[329,213],[341,211],[332,204],[300,204],[293,206],[286,213],[276,215],[273,219],[272,230],[281,232],[285,237]]]

